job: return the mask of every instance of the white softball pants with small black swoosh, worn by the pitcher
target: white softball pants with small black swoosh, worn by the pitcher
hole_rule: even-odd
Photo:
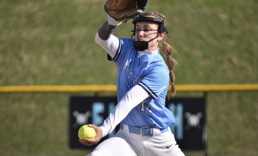
[[[176,145],[175,137],[170,128],[161,133],[153,128],[153,136],[142,136],[129,132],[124,124],[114,136],[101,142],[87,156],[184,156]]]

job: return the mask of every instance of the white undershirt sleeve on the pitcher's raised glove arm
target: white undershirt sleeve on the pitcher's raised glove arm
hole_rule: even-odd
[[[108,16],[107,18],[108,24],[112,26],[119,26],[122,22],[118,22],[114,20],[112,17]],[[115,57],[116,52],[119,48],[119,40],[116,36],[112,35],[114,33],[115,29],[110,34],[110,38],[107,40],[102,40],[99,37],[99,34],[97,32],[95,36],[95,42],[100,45],[107,53],[112,57],[112,59]]]

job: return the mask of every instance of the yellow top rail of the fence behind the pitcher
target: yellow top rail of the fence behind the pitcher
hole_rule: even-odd
[[[186,84],[175,85],[176,90],[187,91],[257,91],[258,84]],[[170,88],[170,87],[169,87]],[[0,86],[0,93],[15,92],[116,92],[116,85],[39,85]]]

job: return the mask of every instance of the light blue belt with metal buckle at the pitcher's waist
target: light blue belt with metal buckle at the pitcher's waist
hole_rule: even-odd
[[[120,125],[120,129],[123,130],[124,128],[124,124],[121,123]],[[153,136],[153,128],[150,127],[133,127],[133,126],[129,126],[129,132],[130,133],[134,133],[134,134],[141,134],[141,136]],[[157,130],[157,128],[155,128],[155,130]],[[168,131],[168,128],[160,128],[160,133],[165,133]]]

